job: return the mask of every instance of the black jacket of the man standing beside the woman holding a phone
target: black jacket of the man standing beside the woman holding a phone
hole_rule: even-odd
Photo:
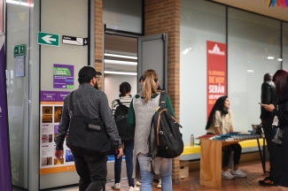
[[[276,107],[277,104],[277,95],[276,95],[276,87],[274,83],[270,81],[265,81],[261,86],[261,103],[263,104],[274,104]],[[274,114],[265,110],[265,108],[261,107],[261,120],[265,120],[266,118],[273,118]]]

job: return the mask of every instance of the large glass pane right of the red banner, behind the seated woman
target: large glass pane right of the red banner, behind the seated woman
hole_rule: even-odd
[[[261,83],[281,68],[279,20],[228,10],[228,95],[235,131],[260,124]]]

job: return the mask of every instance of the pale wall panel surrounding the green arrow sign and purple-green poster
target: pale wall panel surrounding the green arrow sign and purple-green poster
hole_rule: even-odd
[[[88,3],[83,0],[43,0],[41,4],[41,31],[60,35],[59,47],[41,46],[41,90],[72,91],[53,88],[53,64],[74,65],[74,88],[78,88],[78,72],[88,64],[88,46],[63,44],[62,35],[88,36]]]

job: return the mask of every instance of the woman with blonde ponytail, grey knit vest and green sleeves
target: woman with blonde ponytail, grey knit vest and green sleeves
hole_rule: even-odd
[[[154,70],[147,70],[143,75],[142,91],[135,95],[129,107],[128,126],[135,127],[135,147],[133,152],[134,178],[142,177],[141,190],[152,191],[153,172],[148,161],[148,136],[152,116],[160,103],[160,92],[157,91],[158,75]],[[166,108],[175,117],[169,96],[166,96]],[[156,144],[152,144],[156,145]],[[137,160],[136,160],[137,159]],[[160,174],[161,189],[172,191],[172,159],[154,157],[153,171]]]

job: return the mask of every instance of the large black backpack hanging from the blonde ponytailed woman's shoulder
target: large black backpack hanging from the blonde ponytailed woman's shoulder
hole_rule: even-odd
[[[152,159],[152,134],[155,136],[156,146],[158,149],[156,157],[174,158],[183,153],[184,144],[182,140],[182,134],[180,133],[180,127],[166,108],[166,95],[167,93],[160,93],[160,103],[157,111],[152,117],[152,126],[154,126],[154,132],[152,132],[152,126],[148,138],[149,154],[148,157]]]

